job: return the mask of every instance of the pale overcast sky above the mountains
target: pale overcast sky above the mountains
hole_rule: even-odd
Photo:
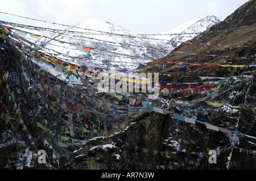
[[[248,0],[0,0],[0,11],[73,25],[98,19],[135,33],[162,33],[193,19],[216,15],[221,20]],[[48,27],[0,13],[0,20]]]

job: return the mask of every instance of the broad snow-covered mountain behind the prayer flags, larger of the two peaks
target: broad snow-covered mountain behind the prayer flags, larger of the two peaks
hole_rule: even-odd
[[[77,23],[61,34],[48,33],[45,36],[55,40],[41,37],[37,43],[43,49],[68,57],[76,64],[86,66],[97,64],[97,67],[105,68],[117,66],[118,69],[134,70],[139,66],[138,64],[166,56],[173,49],[162,40],[138,35],[116,24],[96,19]],[[83,49],[83,47],[92,49]]]

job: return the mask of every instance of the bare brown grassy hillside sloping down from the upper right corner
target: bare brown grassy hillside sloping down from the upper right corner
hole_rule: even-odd
[[[202,33],[191,41],[183,42],[170,54],[163,58],[159,58],[159,60],[162,61],[150,62],[148,64],[152,64],[152,66],[146,66],[142,69],[138,68],[138,70],[158,70],[160,72],[177,71],[176,68],[158,69],[156,66],[153,66],[166,64],[167,66],[171,67],[174,65],[167,64],[168,62],[164,61],[180,61],[189,63],[209,62],[213,64],[236,65],[242,65],[243,62],[246,65],[248,62],[253,63],[255,56],[255,48],[253,48],[255,47],[255,33],[254,31],[250,31],[250,29],[255,29],[256,26],[255,19],[251,18],[255,16],[254,5],[255,1],[249,1],[245,3],[245,5],[234,11],[232,15],[229,15],[222,22],[210,27],[209,30],[205,31],[205,33]],[[245,59],[242,57],[251,59]],[[191,71],[197,71],[201,69],[203,68],[192,68]],[[228,71],[226,71],[226,73],[228,73]],[[212,72],[209,74],[212,74]],[[228,75],[224,75],[224,77],[225,76]]]

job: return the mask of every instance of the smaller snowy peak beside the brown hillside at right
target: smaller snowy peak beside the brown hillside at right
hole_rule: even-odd
[[[177,41],[191,40],[196,37],[198,33],[208,30],[208,28],[219,22],[221,22],[221,20],[214,15],[208,15],[205,18],[191,20],[187,23],[181,24],[181,26],[172,31],[163,32],[162,39],[164,39],[167,44],[171,44],[172,47],[176,48],[180,45]],[[174,33],[180,33],[181,35],[167,35]],[[160,37],[161,36],[157,36],[156,38]]]

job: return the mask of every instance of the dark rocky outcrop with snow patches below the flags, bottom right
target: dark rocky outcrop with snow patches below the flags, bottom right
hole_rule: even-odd
[[[240,116],[249,115],[250,112],[243,111]],[[214,110],[208,115],[199,113],[199,116],[214,125],[220,125],[223,121],[230,125],[236,122],[225,112]],[[74,154],[74,169],[226,169],[231,151],[225,148],[230,144],[228,135],[206,129],[205,125],[183,123],[158,113],[144,113],[131,121],[130,127],[115,134],[114,138],[98,137],[88,141]],[[251,123],[253,120],[247,121]],[[241,124],[244,127],[245,123]],[[240,141],[238,146],[254,148],[245,140]],[[210,164],[207,152],[218,147],[217,163]],[[185,151],[177,151],[183,149]],[[255,169],[255,153],[240,151],[233,150],[230,169]]]

